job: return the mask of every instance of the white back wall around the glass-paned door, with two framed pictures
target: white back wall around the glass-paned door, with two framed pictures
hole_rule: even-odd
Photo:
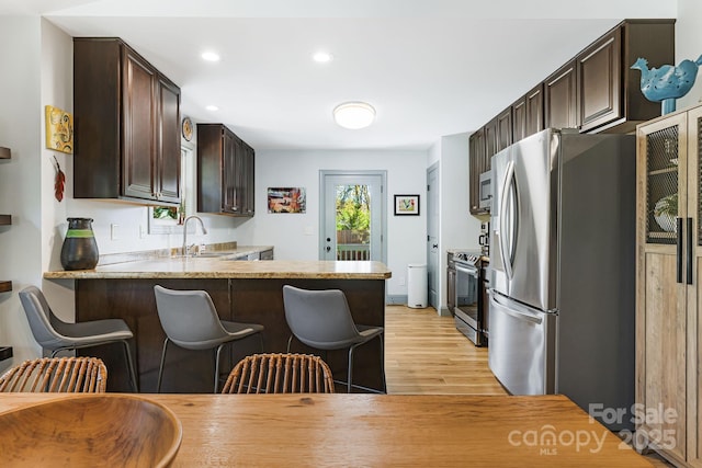
[[[426,263],[427,151],[257,151],[256,217],[237,229],[239,242],[273,244],[280,260],[319,259],[319,171],[387,171],[388,295],[407,295],[407,265]],[[299,186],[306,214],[269,214],[268,187]],[[393,194],[419,194],[420,216],[394,216]],[[403,283],[403,284],[400,284]]]

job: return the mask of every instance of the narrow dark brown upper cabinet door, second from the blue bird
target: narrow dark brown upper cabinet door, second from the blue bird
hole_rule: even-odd
[[[578,126],[576,61],[569,61],[544,81],[544,117],[546,128]]]

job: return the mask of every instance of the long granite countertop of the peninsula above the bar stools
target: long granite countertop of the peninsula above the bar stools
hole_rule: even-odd
[[[239,250],[239,249],[237,249]],[[222,256],[160,258],[99,265],[94,270],[46,272],[47,279],[125,278],[312,278],[387,279],[392,272],[373,261],[227,260]],[[238,254],[241,254],[238,252]]]

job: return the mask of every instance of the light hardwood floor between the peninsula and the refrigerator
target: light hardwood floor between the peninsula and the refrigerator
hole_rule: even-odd
[[[475,347],[452,317],[432,308],[385,307],[385,380],[389,395],[507,395],[487,365],[487,347]],[[654,453],[646,459],[672,467]]]

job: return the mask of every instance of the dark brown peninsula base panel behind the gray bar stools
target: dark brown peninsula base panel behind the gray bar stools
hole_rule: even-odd
[[[283,308],[283,285],[344,292],[356,323],[383,327],[385,324],[384,279],[76,279],[76,320],[121,318],[134,332],[133,352],[141,392],[155,392],[158,367],[166,334],[161,329],[154,285],[173,289],[204,289],[213,299],[219,318],[239,322],[261,323],[265,327],[265,352],[285,352],[290,329]],[[220,368],[228,373],[244,356],[260,352],[258,336],[233,343],[223,353]],[[292,352],[320,354],[293,341]],[[121,345],[106,345],[80,350],[81,355],[94,355],[105,361],[109,370],[107,391],[132,391],[124,366]],[[212,392],[214,351],[188,351],[169,345],[163,370],[162,392]],[[346,380],[347,352],[329,351],[329,363],[335,378]],[[382,362],[384,355],[378,340],[360,346],[354,352],[353,383],[385,391]]]

